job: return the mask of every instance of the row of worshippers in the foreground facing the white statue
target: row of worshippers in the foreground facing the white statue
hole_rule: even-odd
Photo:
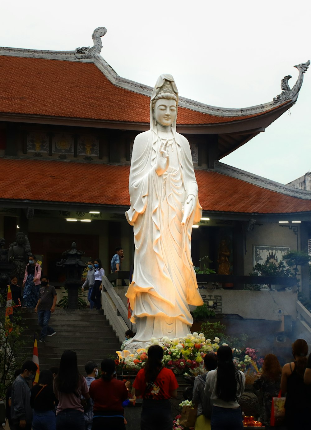
[[[265,356],[262,372],[254,388],[262,393],[260,421],[271,426],[273,397],[286,396],[286,430],[308,428],[311,402],[311,354],[308,344],[297,339],[292,362],[283,369],[274,354]],[[172,430],[170,399],[177,396],[178,383],[172,370],[163,366],[163,348],[152,345],[148,360],[132,384],[131,392],[142,396],[141,430]],[[240,430],[243,428],[240,399],[245,389],[245,374],[235,369],[233,353],[222,345],[204,357],[206,373],[194,381],[192,401],[197,406],[195,430]],[[26,361],[15,372],[7,391],[6,412],[12,430],[125,430],[124,407],[129,404],[130,382],[117,379],[113,359],[102,360],[99,367],[89,361],[86,378],[80,375],[77,354],[64,351],[59,368],[42,370],[31,389],[37,365]],[[298,426],[298,427],[297,427]],[[278,427],[281,429],[282,427]]]

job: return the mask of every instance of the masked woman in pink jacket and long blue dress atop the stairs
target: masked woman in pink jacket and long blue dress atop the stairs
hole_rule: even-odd
[[[36,257],[29,255],[29,263],[25,269],[23,280],[23,299],[25,307],[35,307],[38,300],[38,292],[41,277],[41,266],[37,263]]]

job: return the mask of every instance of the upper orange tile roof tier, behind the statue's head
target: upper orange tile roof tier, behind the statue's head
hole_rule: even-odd
[[[150,98],[113,85],[93,63],[0,55],[0,75],[3,113],[150,121]],[[257,115],[221,117],[179,107],[177,123],[227,123]]]

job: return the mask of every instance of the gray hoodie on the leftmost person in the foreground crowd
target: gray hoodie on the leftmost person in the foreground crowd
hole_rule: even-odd
[[[12,420],[32,421],[32,409],[30,406],[30,388],[25,378],[21,375],[12,384],[11,417]]]

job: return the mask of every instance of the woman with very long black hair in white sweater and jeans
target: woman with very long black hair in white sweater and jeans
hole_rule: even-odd
[[[245,388],[245,375],[236,370],[230,347],[222,345],[217,350],[217,370],[210,370],[206,376],[204,393],[210,393],[212,407],[212,430],[243,429],[239,405]]]

